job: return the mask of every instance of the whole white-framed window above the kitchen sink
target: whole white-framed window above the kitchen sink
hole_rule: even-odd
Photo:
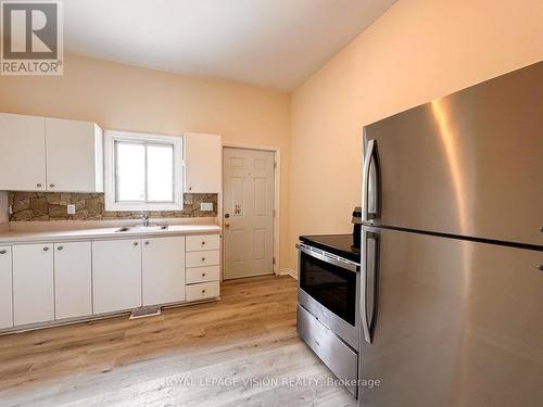
[[[105,131],[105,209],[182,209],[182,139]]]

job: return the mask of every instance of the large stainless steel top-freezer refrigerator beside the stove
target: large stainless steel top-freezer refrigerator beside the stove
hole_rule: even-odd
[[[361,406],[543,406],[543,62],[364,128]]]

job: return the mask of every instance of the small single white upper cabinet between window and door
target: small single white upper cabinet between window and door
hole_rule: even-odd
[[[220,136],[185,135],[185,192],[220,192]]]

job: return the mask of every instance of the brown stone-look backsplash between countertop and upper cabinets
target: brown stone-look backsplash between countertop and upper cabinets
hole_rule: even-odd
[[[217,216],[216,193],[186,193],[182,211],[153,212],[154,218],[192,218]],[[200,211],[202,202],[213,203],[212,212]],[[103,193],[8,192],[10,221],[136,219],[141,212],[106,212]],[[75,215],[66,205],[75,205]]]

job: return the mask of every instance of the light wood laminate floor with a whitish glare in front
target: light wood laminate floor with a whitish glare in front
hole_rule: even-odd
[[[220,302],[0,336],[0,406],[356,406],[295,332],[291,277]]]

